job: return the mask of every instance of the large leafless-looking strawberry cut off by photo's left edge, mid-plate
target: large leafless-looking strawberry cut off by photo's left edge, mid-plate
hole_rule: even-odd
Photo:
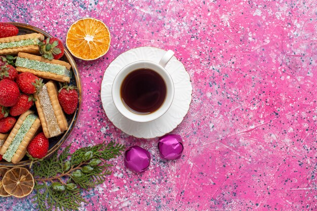
[[[13,80],[0,80],[0,105],[5,107],[17,104],[20,96],[18,85]]]

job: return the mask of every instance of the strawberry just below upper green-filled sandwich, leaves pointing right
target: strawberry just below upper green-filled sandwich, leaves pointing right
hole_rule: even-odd
[[[33,94],[43,87],[43,79],[30,72],[18,74],[16,81],[20,90],[25,94]]]

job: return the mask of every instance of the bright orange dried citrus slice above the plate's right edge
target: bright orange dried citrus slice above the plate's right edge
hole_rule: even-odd
[[[110,32],[100,20],[84,18],[74,22],[66,35],[70,53],[83,60],[94,60],[105,55],[110,46]]]

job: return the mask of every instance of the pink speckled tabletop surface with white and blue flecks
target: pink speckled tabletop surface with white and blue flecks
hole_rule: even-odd
[[[112,160],[113,174],[83,194],[81,210],[317,210],[317,5],[281,1],[14,1],[0,21],[59,37],[94,17],[110,29],[109,52],[77,60],[83,106],[63,146],[114,140],[148,149],[142,174]],[[173,133],[183,156],[160,158],[157,139],[114,128],[101,105],[109,63],[140,46],[175,51],[190,74],[189,113]],[[31,197],[0,198],[2,210],[34,210]],[[22,208],[23,207],[23,208]]]

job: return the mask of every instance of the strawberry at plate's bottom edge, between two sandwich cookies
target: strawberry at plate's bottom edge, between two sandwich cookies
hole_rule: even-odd
[[[49,150],[49,139],[44,133],[37,134],[26,148],[27,152],[34,158],[43,158]]]

